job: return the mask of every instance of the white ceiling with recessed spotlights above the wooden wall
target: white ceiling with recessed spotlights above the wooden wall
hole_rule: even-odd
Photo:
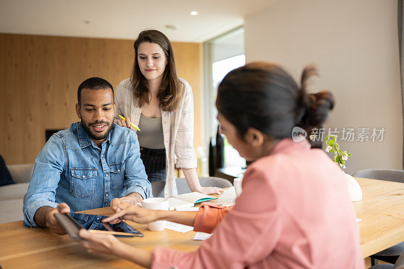
[[[153,28],[171,41],[204,42],[276,1],[0,0],[0,32],[133,40]],[[191,11],[198,15],[191,16]]]

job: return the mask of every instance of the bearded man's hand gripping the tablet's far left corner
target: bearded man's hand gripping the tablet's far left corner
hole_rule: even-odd
[[[65,235],[66,231],[62,225],[55,219],[54,213],[70,213],[70,207],[67,203],[60,203],[57,207],[42,206],[36,210],[34,221],[38,226],[51,229],[52,233]]]

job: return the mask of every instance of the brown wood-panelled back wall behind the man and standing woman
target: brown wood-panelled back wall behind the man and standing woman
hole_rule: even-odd
[[[203,141],[200,44],[173,46],[178,74],[194,90],[198,146]],[[7,164],[23,164],[34,162],[45,129],[65,129],[78,121],[78,85],[97,76],[116,88],[130,76],[134,51],[133,40],[0,34],[0,56],[0,154]]]

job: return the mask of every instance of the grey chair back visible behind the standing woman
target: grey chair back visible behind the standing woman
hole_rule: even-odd
[[[230,181],[222,178],[216,177],[200,177],[199,178],[200,186],[202,187],[219,187],[219,188],[227,188],[232,187],[233,185]],[[188,187],[188,183],[185,178],[177,178],[176,179],[178,194],[191,192],[191,189]],[[164,186],[166,185],[165,180],[159,180],[151,182],[151,192],[154,197],[164,197]]]

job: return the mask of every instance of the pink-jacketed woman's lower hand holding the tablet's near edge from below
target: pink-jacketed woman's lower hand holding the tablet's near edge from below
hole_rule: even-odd
[[[83,240],[79,240],[78,243],[85,247],[90,253],[115,254],[114,251],[117,249],[117,246],[121,244],[113,235],[93,234],[84,229],[79,231],[79,236]]]

